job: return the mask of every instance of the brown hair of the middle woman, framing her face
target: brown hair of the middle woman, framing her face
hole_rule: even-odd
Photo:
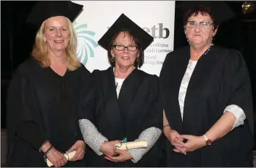
[[[115,33],[115,35],[112,36],[110,44],[107,47],[107,57],[109,59],[111,66],[115,67],[115,62],[111,62],[112,55],[110,51],[113,49],[114,46],[112,45],[120,33],[126,33],[126,35],[128,35],[128,38],[130,38],[131,41],[134,41],[134,43],[137,45],[138,51],[139,51],[139,59],[138,60],[136,59],[136,61],[134,62],[134,67],[141,67],[142,64],[144,63],[144,51],[142,46],[143,44],[141,43],[139,38],[136,38],[136,36],[134,36],[133,33],[131,33],[130,30],[124,30],[124,29],[118,31],[117,33]]]

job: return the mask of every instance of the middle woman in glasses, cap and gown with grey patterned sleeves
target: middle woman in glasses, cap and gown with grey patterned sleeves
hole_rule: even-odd
[[[144,49],[152,41],[152,36],[125,14],[99,40],[112,66],[92,72],[91,92],[80,106],[80,129],[90,147],[85,156],[88,167],[159,164],[162,107],[158,77],[138,70],[144,62]],[[147,147],[115,149],[124,138],[146,140]]]

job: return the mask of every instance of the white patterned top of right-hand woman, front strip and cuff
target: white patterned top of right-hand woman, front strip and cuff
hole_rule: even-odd
[[[178,102],[180,104],[182,119],[183,119],[184,101],[186,97],[186,89],[188,88],[189,80],[191,78],[191,75],[196,65],[197,65],[197,61],[189,60],[189,64],[188,64],[188,67],[186,68],[185,75],[183,76],[183,79],[181,81],[180,91],[178,94]],[[246,119],[246,116],[244,114],[244,110],[241,109],[239,106],[237,106],[236,104],[230,104],[226,106],[226,108],[224,109],[223,113],[225,112],[231,112],[236,117],[236,122],[234,123],[232,130],[235,127],[238,127],[239,125],[244,125],[244,119]]]

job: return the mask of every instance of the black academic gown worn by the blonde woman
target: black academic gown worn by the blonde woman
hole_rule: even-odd
[[[90,72],[83,65],[62,77],[51,67],[41,67],[28,59],[15,72],[7,99],[7,134],[9,167],[47,167],[44,154],[39,152],[44,140],[49,140],[60,152],[67,151],[76,140],[83,140],[78,125],[80,91],[88,88]],[[40,133],[17,135],[20,123],[30,122]],[[32,131],[32,130],[31,130]],[[23,133],[24,134],[24,133]],[[35,135],[31,135],[35,134]],[[33,142],[41,137],[41,144]],[[31,143],[28,140],[33,139]],[[34,144],[35,143],[35,144]],[[83,167],[82,161],[68,161],[65,166]]]

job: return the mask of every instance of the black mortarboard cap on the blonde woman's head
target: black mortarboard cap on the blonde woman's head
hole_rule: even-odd
[[[83,9],[83,5],[75,4],[72,1],[38,1],[28,15],[27,22],[37,29],[49,17],[64,16],[73,22],[81,9]]]

